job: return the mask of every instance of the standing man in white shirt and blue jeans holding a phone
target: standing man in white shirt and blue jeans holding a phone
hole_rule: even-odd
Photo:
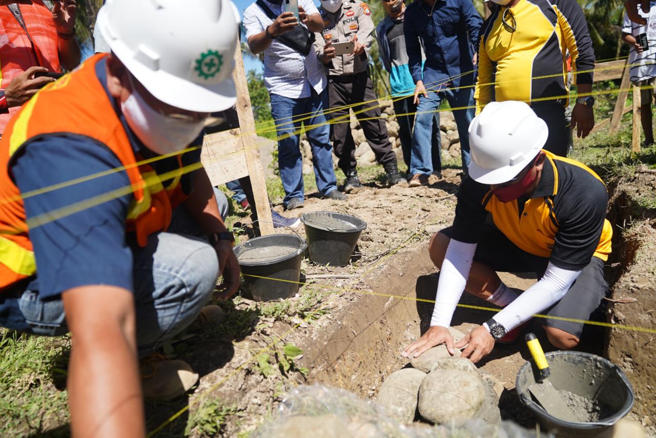
[[[243,25],[251,53],[264,52],[264,85],[277,121],[283,205],[292,210],[302,208],[304,201],[301,123],[308,127],[319,196],[342,201],[346,196],[337,190],[330,130],[323,114],[327,79],[310,43],[312,32],[321,32],[323,22],[312,0],[298,2],[298,20],[287,7],[285,0],[257,0],[244,11]]]

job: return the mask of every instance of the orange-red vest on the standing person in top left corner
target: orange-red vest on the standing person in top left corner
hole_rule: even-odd
[[[50,72],[61,72],[59,64],[59,37],[52,21],[52,12],[41,0],[31,5],[18,5],[23,17],[25,32],[8,6],[0,7],[0,88],[33,66],[43,66]],[[32,47],[32,42],[34,47]],[[9,114],[0,114],[0,133],[19,107],[9,108]]]

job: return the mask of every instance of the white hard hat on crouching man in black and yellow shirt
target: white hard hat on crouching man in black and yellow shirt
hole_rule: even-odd
[[[524,102],[490,102],[469,125],[469,176],[482,184],[510,181],[539,154],[548,133]]]

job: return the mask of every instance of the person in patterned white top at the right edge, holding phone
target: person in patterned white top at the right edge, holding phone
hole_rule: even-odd
[[[640,122],[645,133],[644,146],[654,142],[651,127],[651,103],[653,87],[656,79],[656,1],[651,1],[649,12],[638,11],[646,21],[638,24],[632,20],[628,12],[624,14],[622,39],[629,45],[628,64],[631,66],[629,78],[640,90]],[[646,42],[646,47],[640,44],[640,37]]]

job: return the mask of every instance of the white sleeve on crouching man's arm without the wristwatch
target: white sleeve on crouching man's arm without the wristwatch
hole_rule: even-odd
[[[467,284],[476,244],[451,239],[440,269],[440,282],[430,326],[451,326],[451,318]]]

